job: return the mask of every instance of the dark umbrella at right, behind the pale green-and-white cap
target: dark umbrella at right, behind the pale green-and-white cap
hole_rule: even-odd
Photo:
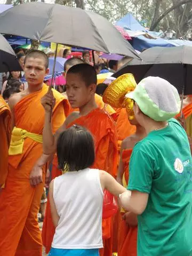
[[[147,76],[159,76],[172,85],[179,93],[192,94],[192,47],[153,47],[140,54],[142,61],[132,60],[113,76],[132,73],[139,83]]]

